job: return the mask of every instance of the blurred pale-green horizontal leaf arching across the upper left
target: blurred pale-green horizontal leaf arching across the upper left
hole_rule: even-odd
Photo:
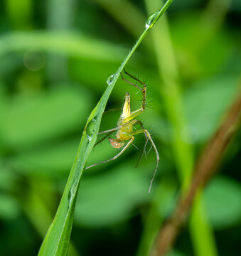
[[[121,60],[124,56],[124,48],[77,33],[14,32],[1,36],[0,41],[0,55],[36,48],[50,53],[92,60]]]

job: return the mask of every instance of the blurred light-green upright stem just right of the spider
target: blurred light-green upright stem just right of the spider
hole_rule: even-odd
[[[159,1],[146,0],[146,7],[149,12],[151,12],[151,9],[155,9],[158,4]],[[181,139],[181,134],[186,127],[186,118],[185,113],[183,112],[183,104],[181,100],[178,67],[166,17],[162,19],[161,23],[159,23],[159,27],[153,31],[152,35],[154,48],[156,50],[159,74],[163,81],[163,85],[160,87],[160,92],[164,99],[168,119],[173,127],[173,154],[176,158],[182,190],[185,191],[191,182],[194,156],[192,146],[183,142],[183,139]],[[215,256],[217,255],[215,250],[215,241],[213,239],[213,233],[208,224],[208,220],[205,218],[203,204],[199,205],[197,202],[195,207],[196,208],[193,210],[193,221],[190,223],[190,228],[196,253],[199,256]],[[202,223],[198,221],[199,218],[203,220]],[[200,233],[199,230],[203,231],[203,235],[206,238],[210,238],[205,240],[205,245],[203,244],[203,240],[196,239]],[[205,254],[203,254],[202,250],[199,250],[199,248],[202,247],[206,248]]]

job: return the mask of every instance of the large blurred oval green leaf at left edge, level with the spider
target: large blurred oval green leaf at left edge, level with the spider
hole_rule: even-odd
[[[71,132],[85,124],[83,113],[90,110],[91,102],[85,90],[63,86],[31,97],[16,95],[0,117],[3,141],[22,150]]]

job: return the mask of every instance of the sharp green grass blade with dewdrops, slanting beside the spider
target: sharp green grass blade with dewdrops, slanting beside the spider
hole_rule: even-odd
[[[61,198],[60,205],[58,207],[53,223],[50,225],[50,228],[45,235],[45,239],[43,240],[43,244],[41,245],[41,249],[38,253],[39,256],[67,255],[68,245],[70,242],[70,234],[73,225],[73,217],[75,213],[77,191],[80,184],[80,178],[82,176],[82,170],[84,169],[87,158],[90,155],[93,146],[95,145],[97,132],[100,127],[100,121],[105,110],[109,95],[112,92],[112,89],[117,82],[117,79],[119,78],[119,74],[127,64],[129,58],[131,58],[136,48],[146,36],[146,33],[148,33],[151,27],[154,26],[161,15],[164,14],[172,1],[173,0],[166,1],[166,4],[164,4],[161,10],[149,16],[146,21],[146,29],[136,41],[134,47],[129,52],[122,65],[119,66],[117,73],[114,73],[113,75],[109,76],[109,78],[107,78],[107,89],[102,95],[100,101],[97,103],[95,109],[92,110],[90,117],[87,119],[87,124],[85,125],[85,129],[82,134],[80,146],[77,149],[75,161],[70,171],[70,176],[68,177],[65,191]]]

